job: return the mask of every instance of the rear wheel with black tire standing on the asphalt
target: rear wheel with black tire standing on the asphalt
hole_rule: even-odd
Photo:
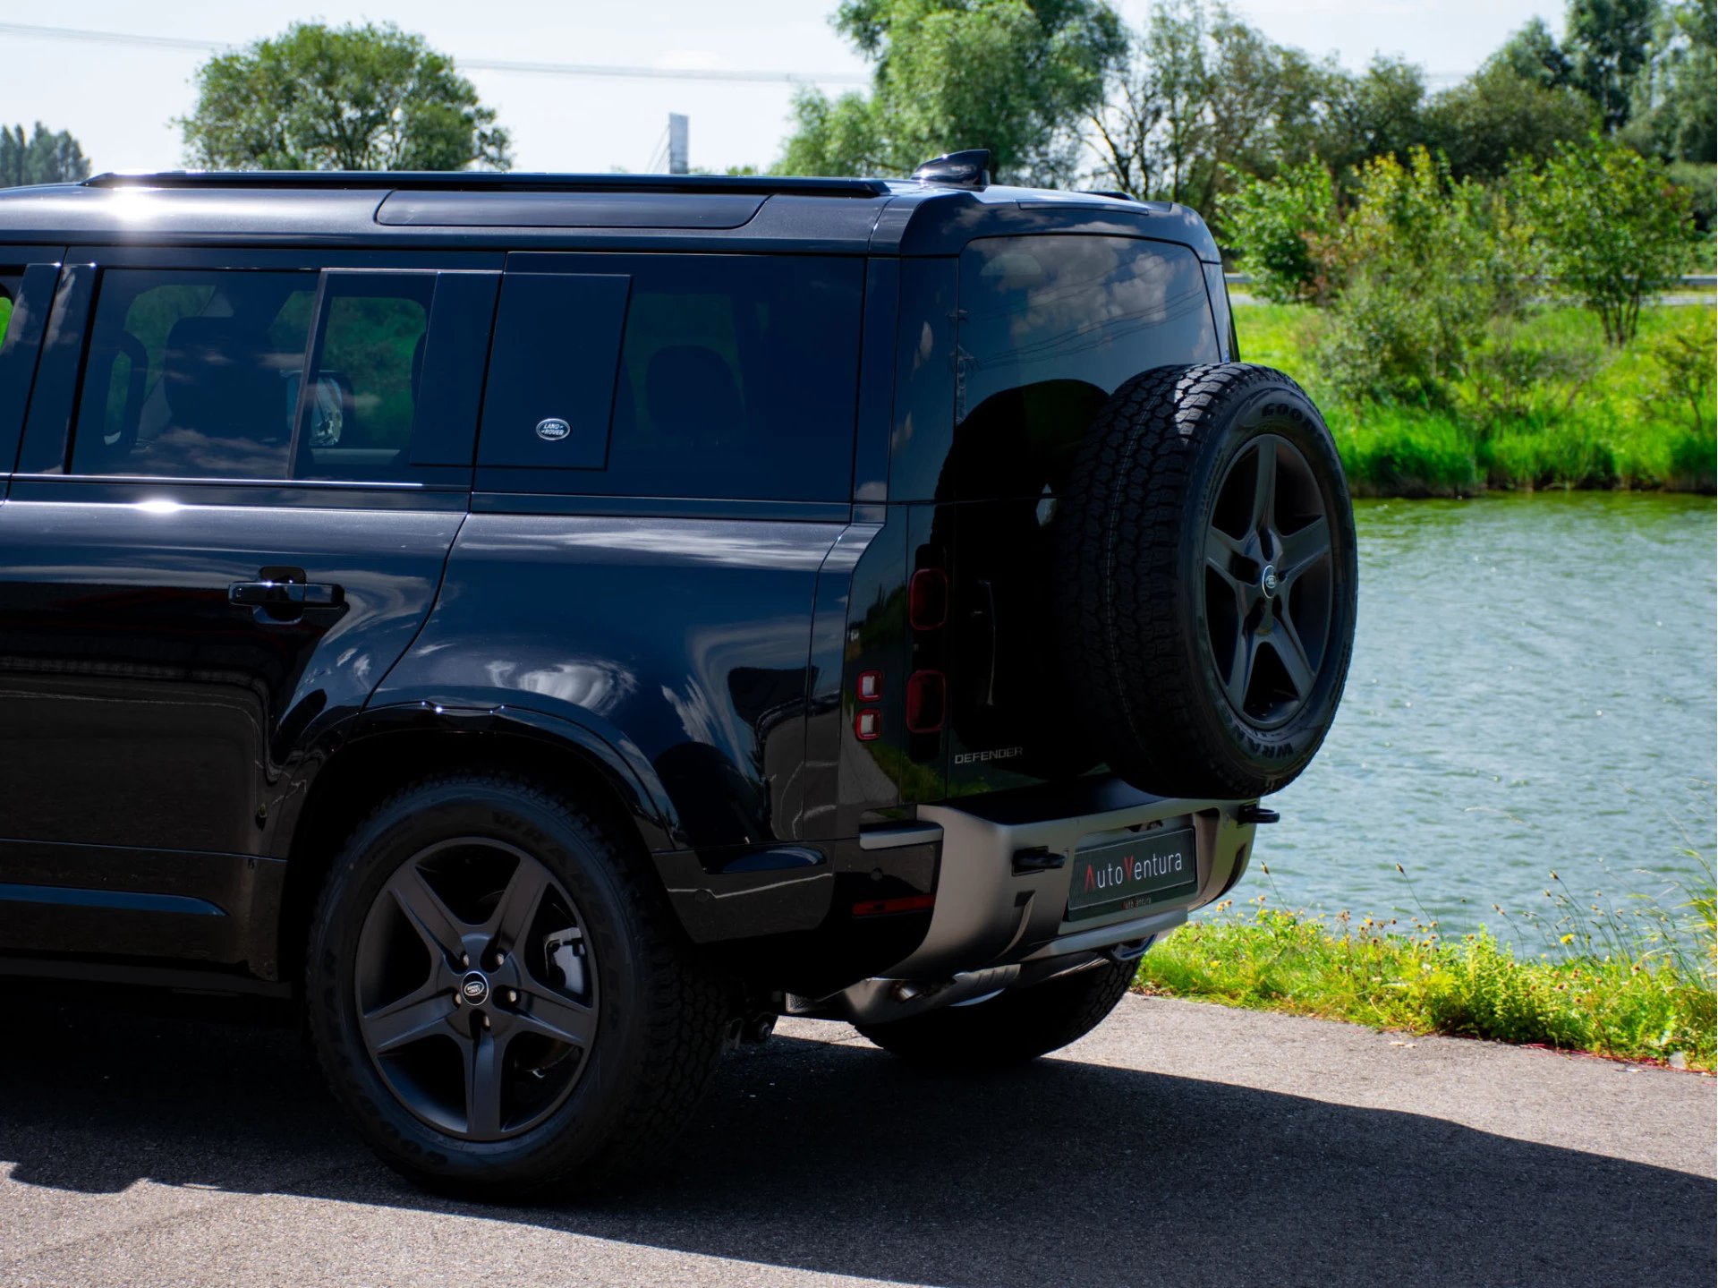
[[[503,770],[402,788],[309,925],[335,1099],[388,1166],[462,1197],[613,1193],[698,1107],[735,982],[679,927],[625,820]]]

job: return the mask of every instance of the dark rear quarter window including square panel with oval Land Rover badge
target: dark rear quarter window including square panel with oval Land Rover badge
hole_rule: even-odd
[[[529,490],[847,500],[862,280],[794,256],[509,272],[478,461]]]

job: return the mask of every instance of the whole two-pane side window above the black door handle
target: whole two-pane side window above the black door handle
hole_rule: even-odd
[[[402,476],[433,289],[433,273],[105,270],[72,473]]]

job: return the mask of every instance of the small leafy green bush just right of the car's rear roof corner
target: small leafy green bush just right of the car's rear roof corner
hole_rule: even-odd
[[[1218,203],[1228,241],[1258,292],[1276,303],[1326,294],[1325,258],[1335,239],[1337,187],[1318,162],[1275,179],[1247,179]]]

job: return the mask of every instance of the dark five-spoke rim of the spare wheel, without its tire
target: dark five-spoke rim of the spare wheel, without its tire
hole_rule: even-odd
[[[1295,717],[1330,647],[1330,516],[1313,468],[1275,433],[1218,485],[1206,530],[1206,643],[1223,695],[1256,729]]]

